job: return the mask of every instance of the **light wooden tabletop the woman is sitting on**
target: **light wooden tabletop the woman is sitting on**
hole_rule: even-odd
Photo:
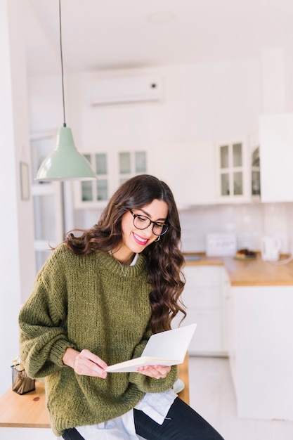
[[[178,396],[189,404],[188,354],[178,368],[179,379],[185,384]],[[22,396],[9,388],[0,397],[0,427],[51,428],[44,382],[36,380],[36,389]]]

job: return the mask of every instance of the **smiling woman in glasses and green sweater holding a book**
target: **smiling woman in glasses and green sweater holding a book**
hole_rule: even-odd
[[[81,233],[81,234],[80,234]],[[126,181],[98,224],[67,234],[20,311],[20,357],[46,376],[53,431],[64,439],[221,439],[172,391],[176,366],[106,373],[169,330],[184,287],[181,228],[171,190]]]

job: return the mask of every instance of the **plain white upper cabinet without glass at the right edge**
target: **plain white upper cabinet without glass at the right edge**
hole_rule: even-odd
[[[293,201],[293,113],[259,118],[261,201]]]

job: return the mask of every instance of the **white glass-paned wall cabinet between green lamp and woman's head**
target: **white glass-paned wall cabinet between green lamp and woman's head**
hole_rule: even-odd
[[[94,181],[73,182],[74,207],[104,207],[121,183],[136,174],[150,174],[147,150],[117,150],[84,153],[98,176]]]

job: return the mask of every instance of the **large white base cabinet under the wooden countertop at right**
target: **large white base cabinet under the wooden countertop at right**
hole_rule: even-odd
[[[293,420],[293,286],[232,287],[229,358],[237,413]]]

